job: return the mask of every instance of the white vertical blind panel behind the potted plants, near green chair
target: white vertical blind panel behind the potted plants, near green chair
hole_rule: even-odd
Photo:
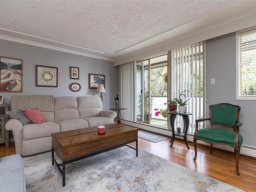
[[[170,55],[170,96],[178,98],[182,91],[187,99],[187,112],[193,113],[189,116],[189,134],[194,134],[195,119],[204,117],[204,42],[174,49]],[[179,116],[176,118],[176,127],[182,127],[183,121]],[[201,124],[200,124],[201,126]],[[199,126],[199,128],[200,128]]]

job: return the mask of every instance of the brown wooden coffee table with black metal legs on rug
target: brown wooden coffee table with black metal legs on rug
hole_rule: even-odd
[[[138,129],[119,123],[105,125],[105,129],[105,134],[98,134],[97,126],[52,134],[52,165],[55,162],[62,174],[63,187],[66,185],[65,165],[68,163],[124,145],[136,150],[138,157]],[[134,141],[136,147],[127,145]],[[57,163],[54,152],[62,163]]]

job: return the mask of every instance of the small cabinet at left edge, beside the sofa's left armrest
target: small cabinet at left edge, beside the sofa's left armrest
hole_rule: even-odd
[[[8,115],[6,112],[9,111],[9,104],[0,104],[0,108],[4,108],[4,110],[1,110],[2,114],[0,114],[0,120],[1,120],[1,138],[0,142],[4,143],[6,148],[9,147],[9,131],[5,129],[5,124],[8,121]]]

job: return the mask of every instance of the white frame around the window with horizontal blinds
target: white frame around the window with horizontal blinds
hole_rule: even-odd
[[[247,28],[236,32],[236,100],[256,100],[255,96],[239,96],[239,37],[250,33],[255,33],[256,27]]]

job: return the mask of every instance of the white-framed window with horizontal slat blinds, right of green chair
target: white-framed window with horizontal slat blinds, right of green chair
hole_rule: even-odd
[[[256,28],[236,33],[237,100],[256,100]]]

